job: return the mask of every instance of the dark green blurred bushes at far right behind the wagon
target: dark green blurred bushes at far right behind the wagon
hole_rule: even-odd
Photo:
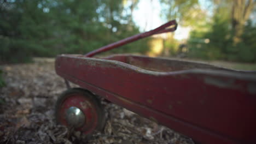
[[[190,34],[189,57],[202,59],[222,59],[225,61],[256,62],[256,28],[252,22],[248,21],[245,32],[242,35],[241,43],[234,45],[232,38],[234,35],[230,29],[228,19],[216,15],[210,31],[193,31]],[[205,43],[206,39],[210,43]]]

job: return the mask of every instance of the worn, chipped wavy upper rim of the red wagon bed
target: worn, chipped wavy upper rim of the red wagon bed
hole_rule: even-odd
[[[122,55],[121,55],[122,56]],[[123,57],[128,57],[132,55],[123,55]],[[115,57],[115,56],[113,56]],[[112,57],[112,58],[113,58]],[[182,63],[179,61],[174,61],[173,59],[162,59],[162,58],[150,58],[150,57],[143,57],[143,56],[132,56],[132,57],[140,57],[145,59],[145,61],[150,59],[150,61],[158,61],[160,59],[161,61],[164,61],[164,63],[172,63],[171,65],[168,65],[168,67],[184,67],[182,66]],[[147,69],[136,67],[135,65],[127,64],[120,61],[114,61],[110,59],[100,59],[100,58],[88,58],[88,57],[78,57],[76,55],[61,55],[57,58],[57,61],[62,61],[63,63],[68,62],[75,62],[75,61],[82,61],[83,65],[90,65],[90,66],[96,66],[96,67],[112,67],[115,69],[123,69],[123,70],[129,70],[134,71],[135,73],[141,73],[141,74],[147,74],[147,75],[155,75],[155,76],[176,76],[180,74],[207,74],[207,75],[218,75],[218,76],[231,76],[235,79],[249,79],[249,80],[255,80],[256,76],[253,73],[246,74],[244,71],[242,71],[242,74],[238,74],[235,70],[230,69],[223,69],[216,67],[215,65],[208,65],[208,64],[200,64],[195,62],[185,62],[186,65],[194,65],[194,67],[191,67],[189,69],[176,69],[173,71],[166,71],[166,72],[160,72],[160,71],[150,71]],[[94,62],[92,62],[94,61]],[[144,60],[143,60],[144,61]],[[175,63],[175,64],[174,64]],[[184,62],[183,62],[184,63]],[[99,64],[99,65],[97,65]],[[174,64],[174,65],[173,65]],[[162,65],[162,64],[161,64]],[[144,65],[146,66],[146,65]],[[149,67],[149,66],[146,66]],[[152,65],[150,65],[152,67]],[[164,67],[164,66],[163,66]],[[198,69],[197,69],[198,68]],[[226,71],[224,71],[226,70]],[[245,73],[245,74],[243,74]],[[181,79],[181,77],[179,77]]]

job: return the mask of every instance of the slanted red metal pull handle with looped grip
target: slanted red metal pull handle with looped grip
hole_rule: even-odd
[[[174,27],[168,28],[170,26],[174,26]],[[119,47],[119,46],[122,46],[122,45],[125,45],[125,44],[128,44],[128,43],[131,43],[132,41],[136,41],[136,40],[139,40],[139,39],[142,39],[142,38],[149,37],[150,35],[166,33],[166,32],[173,32],[173,31],[176,30],[176,28],[177,28],[177,22],[176,22],[176,20],[172,20],[172,21],[169,21],[169,22],[165,23],[164,25],[161,25],[160,27],[155,28],[151,31],[144,32],[144,33],[141,33],[141,34],[136,34],[136,35],[133,35],[129,38],[125,38],[125,39],[119,40],[115,43],[100,47],[97,50],[86,53],[85,56],[86,57],[92,57],[92,56],[94,56],[98,53],[108,51],[108,50],[114,49],[115,47]]]

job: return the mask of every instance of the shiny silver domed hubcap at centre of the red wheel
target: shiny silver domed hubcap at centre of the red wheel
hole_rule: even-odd
[[[74,128],[82,127],[85,123],[85,115],[84,113],[75,106],[69,107],[66,111],[66,119],[68,125],[73,126]]]

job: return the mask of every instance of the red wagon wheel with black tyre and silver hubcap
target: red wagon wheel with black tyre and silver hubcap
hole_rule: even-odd
[[[105,123],[100,101],[82,88],[71,88],[60,95],[55,107],[55,117],[57,123],[86,135],[94,130],[102,130]]]

